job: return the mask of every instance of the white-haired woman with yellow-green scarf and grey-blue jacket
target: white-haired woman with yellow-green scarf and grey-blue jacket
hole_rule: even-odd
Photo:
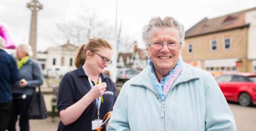
[[[19,127],[21,131],[29,131],[27,110],[35,91],[35,87],[43,84],[43,75],[39,64],[31,59],[33,52],[31,46],[21,44],[17,47],[17,67],[22,80],[12,87],[13,108],[9,121],[8,131],[16,131],[15,125],[19,115]]]

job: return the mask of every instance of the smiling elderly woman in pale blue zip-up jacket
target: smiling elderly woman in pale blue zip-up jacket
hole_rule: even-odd
[[[172,17],[144,26],[148,66],[122,87],[108,131],[236,131],[212,75],[182,61],[184,37]]]

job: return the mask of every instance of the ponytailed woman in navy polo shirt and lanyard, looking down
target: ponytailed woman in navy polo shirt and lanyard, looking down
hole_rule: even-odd
[[[111,63],[112,46],[103,38],[89,39],[76,54],[76,70],[67,73],[59,85],[58,131],[92,131],[100,128],[116,100],[114,83],[102,74]]]

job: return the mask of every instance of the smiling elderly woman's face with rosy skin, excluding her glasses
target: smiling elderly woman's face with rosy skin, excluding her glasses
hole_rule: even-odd
[[[155,28],[152,30],[150,43],[154,42],[169,42],[180,41],[177,29],[173,27]],[[179,58],[179,49],[169,49],[167,44],[164,44],[161,50],[153,50],[152,47],[147,48],[147,53],[151,57],[155,71],[161,75],[166,75],[171,71]]]

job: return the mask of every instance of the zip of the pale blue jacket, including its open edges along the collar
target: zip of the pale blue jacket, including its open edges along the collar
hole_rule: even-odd
[[[179,83],[183,83],[183,82],[187,82],[189,80],[193,80],[193,79],[197,79],[197,78],[191,78],[191,79],[188,79],[186,81],[181,81],[181,82],[178,82],[176,83],[166,94],[166,97],[167,95],[169,94],[169,92],[176,86],[178,85]],[[137,84],[131,84],[131,85],[134,85],[134,86],[143,86],[145,88],[147,88],[148,90],[152,91],[150,88],[146,87],[145,85],[137,85]],[[160,96],[158,94],[156,94],[154,91],[152,91],[158,98],[159,100],[162,102],[162,112],[161,112],[161,117],[163,117],[163,120],[165,121],[165,101],[162,101]],[[166,131],[166,123],[165,123],[165,131]]]

